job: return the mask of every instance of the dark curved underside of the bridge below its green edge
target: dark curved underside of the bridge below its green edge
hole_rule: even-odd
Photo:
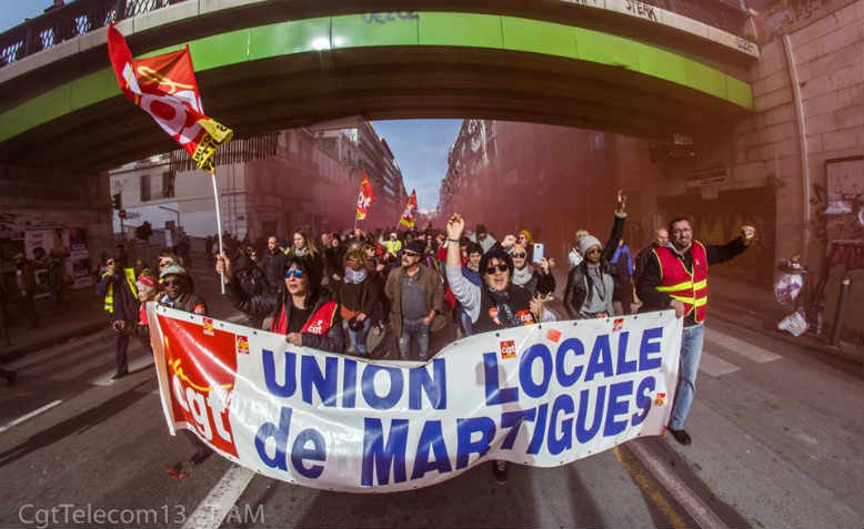
[[[238,138],[348,115],[484,118],[640,136],[732,123],[745,111],[624,68],[486,49],[355,48],[199,73],[204,109]],[[122,96],[0,144],[0,160],[98,171],[175,149]]]

